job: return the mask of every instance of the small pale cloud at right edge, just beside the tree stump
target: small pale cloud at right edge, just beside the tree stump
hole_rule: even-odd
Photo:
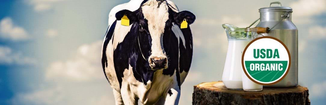
[[[322,97],[326,94],[326,81],[320,82],[317,84],[313,84],[311,86],[311,93],[312,97]]]

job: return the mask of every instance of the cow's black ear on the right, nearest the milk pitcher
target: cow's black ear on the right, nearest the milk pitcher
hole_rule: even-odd
[[[188,24],[194,23],[196,16],[189,11],[181,11],[174,14],[174,20],[180,25],[183,20],[186,20]]]

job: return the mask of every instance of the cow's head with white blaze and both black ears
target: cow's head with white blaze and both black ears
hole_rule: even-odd
[[[145,0],[136,11],[121,10],[116,13],[116,19],[126,15],[130,24],[138,28],[135,41],[139,42],[142,57],[148,61],[149,67],[153,70],[168,68],[168,42],[172,33],[172,23],[180,26],[184,19],[189,24],[195,21],[195,15],[189,11],[175,12],[165,0]],[[131,29],[133,30],[133,29]],[[138,44],[138,43],[137,43]]]

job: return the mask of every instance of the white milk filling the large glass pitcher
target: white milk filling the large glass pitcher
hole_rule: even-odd
[[[241,58],[244,48],[250,41],[251,40],[229,40],[228,52],[222,74],[222,81],[228,89],[243,88]]]

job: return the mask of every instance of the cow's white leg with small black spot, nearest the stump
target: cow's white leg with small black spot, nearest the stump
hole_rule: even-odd
[[[168,94],[165,98],[165,105],[178,105],[180,99],[180,89],[179,86],[176,85],[168,91]]]

